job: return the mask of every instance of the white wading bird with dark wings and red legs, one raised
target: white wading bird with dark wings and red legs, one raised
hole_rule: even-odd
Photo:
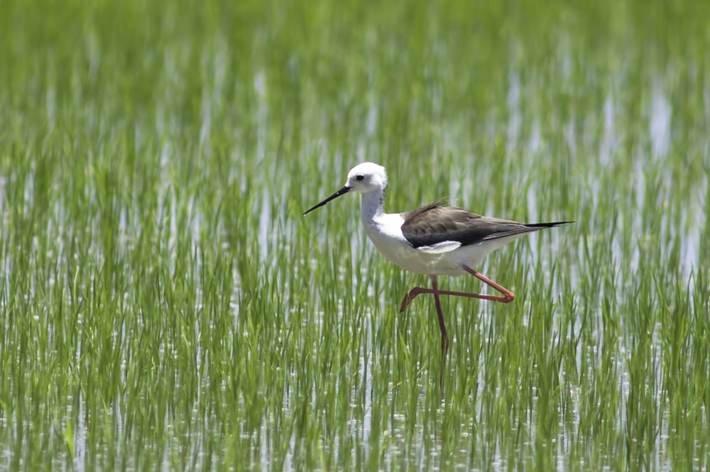
[[[362,223],[378,251],[395,265],[409,272],[427,275],[431,280],[431,288],[417,286],[405,295],[400,312],[404,312],[418,295],[434,295],[444,363],[449,351],[449,336],[440,296],[513,302],[513,292],[477,272],[474,267],[491,251],[510,241],[541,229],[574,223],[518,223],[481,216],[458,207],[447,207],[440,201],[425,204],[412,212],[386,213],[384,200],[387,186],[387,170],[383,166],[370,162],[360,163],[348,172],[345,185],[340,190],[315,204],[303,216],[344,194],[361,194]],[[440,275],[473,275],[501,295],[441,290],[438,282]]]

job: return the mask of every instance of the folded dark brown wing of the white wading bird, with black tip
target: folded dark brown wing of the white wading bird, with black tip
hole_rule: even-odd
[[[569,223],[569,221],[559,221],[557,223],[522,224],[504,219],[488,218],[457,207],[443,207],[442,202],[425,205],[402,216],[405,219],[402,233],[415,248],[433,246],[444,241],[457,241],[461,243],[461,246],[468,246],[481,241],[530,233]]]

